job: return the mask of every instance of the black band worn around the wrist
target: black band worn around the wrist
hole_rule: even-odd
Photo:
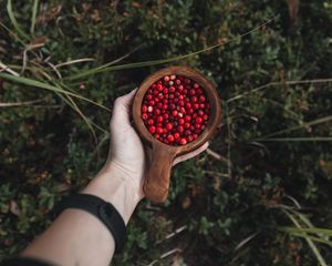
[[[116,208],[104,200],[90,194],[75,194],[60,202],[55,209],[59,215],[65,208],[80,208],[93,214],[110,229],[115,241],[115,253],[120,253],[126,242],[125,223]]]

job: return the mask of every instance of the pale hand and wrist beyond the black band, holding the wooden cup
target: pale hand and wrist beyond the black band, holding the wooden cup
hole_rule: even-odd
[[[137,203],[144,197],[143,183],[149,166],[151,149],[144,146],[131,124],[131,103],[136,90],[117,98],[111,119],[108,158],[97,176],[83,190],[111,202],[128,222]],[[177,157],[174,165],[204,152],[205,143],[196,151]]]

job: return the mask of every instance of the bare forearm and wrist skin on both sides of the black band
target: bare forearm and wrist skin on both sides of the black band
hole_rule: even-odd
[[[82,193],[112,203],[127,223],[141,198],[123,175],[116,168],[103,168]],[[69,208],[22,255],[56,265],[107,265],[114,249],[113,236],[101,221]]]

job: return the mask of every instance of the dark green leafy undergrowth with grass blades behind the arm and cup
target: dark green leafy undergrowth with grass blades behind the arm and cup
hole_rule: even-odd
[[[114,99],[178,63],[217,84],[222,124],[114,265],[331,264],[331,4],[292,24],[287,1],[0,4],[0,259],[103,165]]]

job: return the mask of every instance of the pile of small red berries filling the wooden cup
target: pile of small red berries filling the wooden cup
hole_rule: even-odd
[[[206,129],[210,108],[206,92],[197,82],[183,75],[165,75],[145,93],[142,119],[158,141],[185,145]]]

